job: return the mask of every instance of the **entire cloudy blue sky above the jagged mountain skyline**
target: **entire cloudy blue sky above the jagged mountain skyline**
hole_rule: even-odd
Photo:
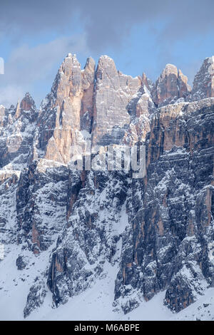
[[[107,54],[118,70],[153,81],[173,63],[190,83],[214,54],[213,0],[0,2],[0,104],[29,91],[39,106],[68,52],[82,67]]]

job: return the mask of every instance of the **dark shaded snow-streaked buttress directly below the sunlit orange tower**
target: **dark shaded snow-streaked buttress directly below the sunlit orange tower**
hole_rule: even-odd
[[[16,186],[17,239],[34,254],[48,249],[66,224],[67,185],[68,168],[57,162],[34,160],[21,172]]]

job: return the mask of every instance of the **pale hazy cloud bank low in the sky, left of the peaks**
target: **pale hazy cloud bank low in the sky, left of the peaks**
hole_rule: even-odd
[[[8,106],[16,103],[26,91],[38,91],[34,88],[35,83],[42,87],[44,83],[53,81],[56,64],[59,66],[62,57],[73,51],[88,54],[84,34],[57,38],[32,48],[26,44],[15,48],[5,64],[5,74],[0,78],[1,104]]]

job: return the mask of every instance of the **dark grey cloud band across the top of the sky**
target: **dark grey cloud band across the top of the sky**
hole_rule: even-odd
[[[62,31],[78,16],[86,31],[89,48],[119,46],[136,24],[157,19],[166,22],[159,34],[164,41],[177,41],[214,27],[213,0],[8,0],[1,2],[0,31],[19,41],[46,31]]]

